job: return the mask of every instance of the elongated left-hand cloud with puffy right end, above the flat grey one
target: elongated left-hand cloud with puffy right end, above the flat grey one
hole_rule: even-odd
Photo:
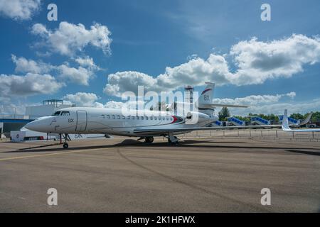
[[[36,74],[44,74],[53,72],[58,74],[60,79],[70,81],[75,84],[89,85],[90,79],[95,76],[95,72],[100,70],[100,67],[95,65],[92,57],[78,57],[75,62],[78,62],[79,67],[70,67],[68,62],[63,65],[55,66],[44,62],[36,62],[28,60],[25,57],[16,57],[12,55],[12,61],[16,64],[16,72],[31,72]]]

